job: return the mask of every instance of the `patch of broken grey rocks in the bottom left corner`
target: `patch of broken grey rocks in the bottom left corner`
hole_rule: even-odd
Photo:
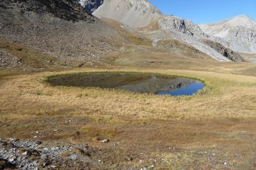
[[[0,139],[0,169],[104,169],[101,156],[87,144]]]

